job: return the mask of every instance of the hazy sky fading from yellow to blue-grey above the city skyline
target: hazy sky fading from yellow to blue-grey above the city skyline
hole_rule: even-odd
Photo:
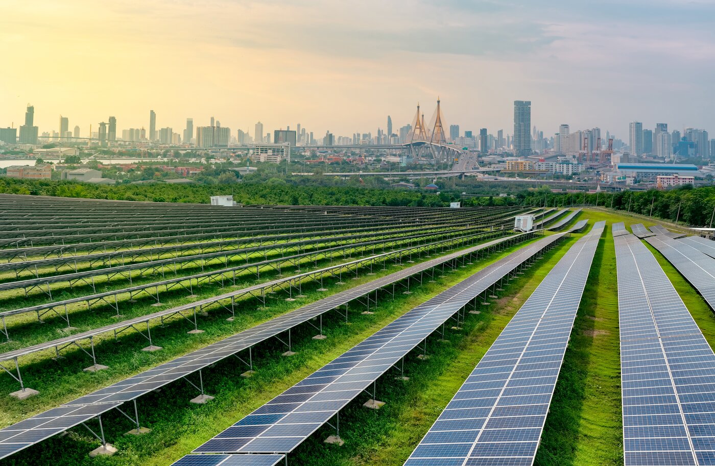
[[[429,120],[715,135],[715,0],[3,0],[0,127],[182,132],[216,117],[315,137]]]

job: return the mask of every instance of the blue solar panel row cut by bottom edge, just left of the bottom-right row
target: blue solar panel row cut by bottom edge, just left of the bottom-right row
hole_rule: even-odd
[[[605,222],[514,315],[405,466],[530,466]]]

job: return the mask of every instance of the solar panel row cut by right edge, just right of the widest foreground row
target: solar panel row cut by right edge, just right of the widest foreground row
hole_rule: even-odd
[[[715,309],[715,260],[712,257],[702,254],[690,244],[662,234],[646,238],[646,241],[658,249]]]

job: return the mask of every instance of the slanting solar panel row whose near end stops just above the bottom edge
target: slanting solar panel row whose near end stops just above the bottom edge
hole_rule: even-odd
[[[194,451],[292,451],[465,304],[562,235],[529,244],[420,304]]]

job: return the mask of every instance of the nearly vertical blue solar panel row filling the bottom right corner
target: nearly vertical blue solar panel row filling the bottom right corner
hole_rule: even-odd
[[[615,245],[624,465],[712,465],[715,354],[649,249]]]

